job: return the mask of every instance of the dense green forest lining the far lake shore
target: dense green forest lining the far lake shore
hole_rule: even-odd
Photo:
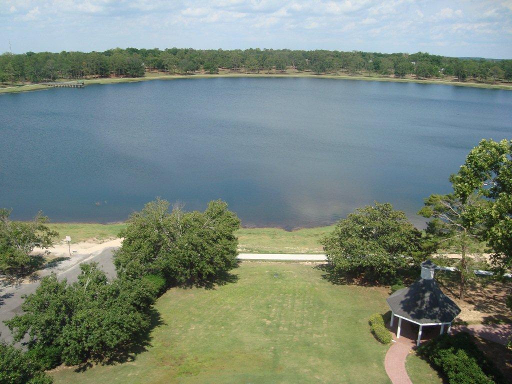
[[[512,60],[461,59],[418,52],[369,53],[340,51],[292,51],[272,49],[194,50],[170,48],[110,49],[105,52],[27,52],[0,56],[0,82],[39,82],[108,76],[143,76],[146,69],[166,73],[193,74],[219,69],[259,73],[260,71],[309,71],[315,74],[347,72],[383,76],[416,75],[419,78],[455,76],[485,81],[512,80]]]

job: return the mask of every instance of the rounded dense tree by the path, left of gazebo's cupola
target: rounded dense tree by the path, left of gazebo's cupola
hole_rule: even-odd
[[[421,233],[390,203],[357,208],[321,240],[327,260],[339,273],[394,283],[418,264]]]

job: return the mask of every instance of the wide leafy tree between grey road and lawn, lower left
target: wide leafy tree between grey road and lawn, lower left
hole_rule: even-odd
[[[47,369],[116,359],[150,327],[156,292],[147,281],[108,281],[96,263],[80,268],[72,285],[46,276],[26,298],[24,313],[5,322],[16,342],[28,334],[29,353]]]

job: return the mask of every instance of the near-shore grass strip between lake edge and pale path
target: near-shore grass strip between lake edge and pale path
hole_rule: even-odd
[[[71,236],[73,243],[103,242],[117,238],[123,223],[56,223],[50,227],[59,232],[59,240]],[[246,253],[322,253],[318,240],[334,226],[285,231],[280,228],[242,228],[237,232],[240,252]]]

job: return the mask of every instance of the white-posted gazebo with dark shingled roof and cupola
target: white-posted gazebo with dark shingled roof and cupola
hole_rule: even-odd
[[[440,334],[447,326],[446,332],[450,332],[452,322],[460,313],[460,308],[437,285],[434,279],[435,268],[436,265],[430,260],[421,263],[421,277],[410,287],[399,289],[387,298],[391,308],[391,327],[395,317],[398,317],[396,338],[400,337],[402,319],[419,325],[417,346],[425,326],[440,325]]]

